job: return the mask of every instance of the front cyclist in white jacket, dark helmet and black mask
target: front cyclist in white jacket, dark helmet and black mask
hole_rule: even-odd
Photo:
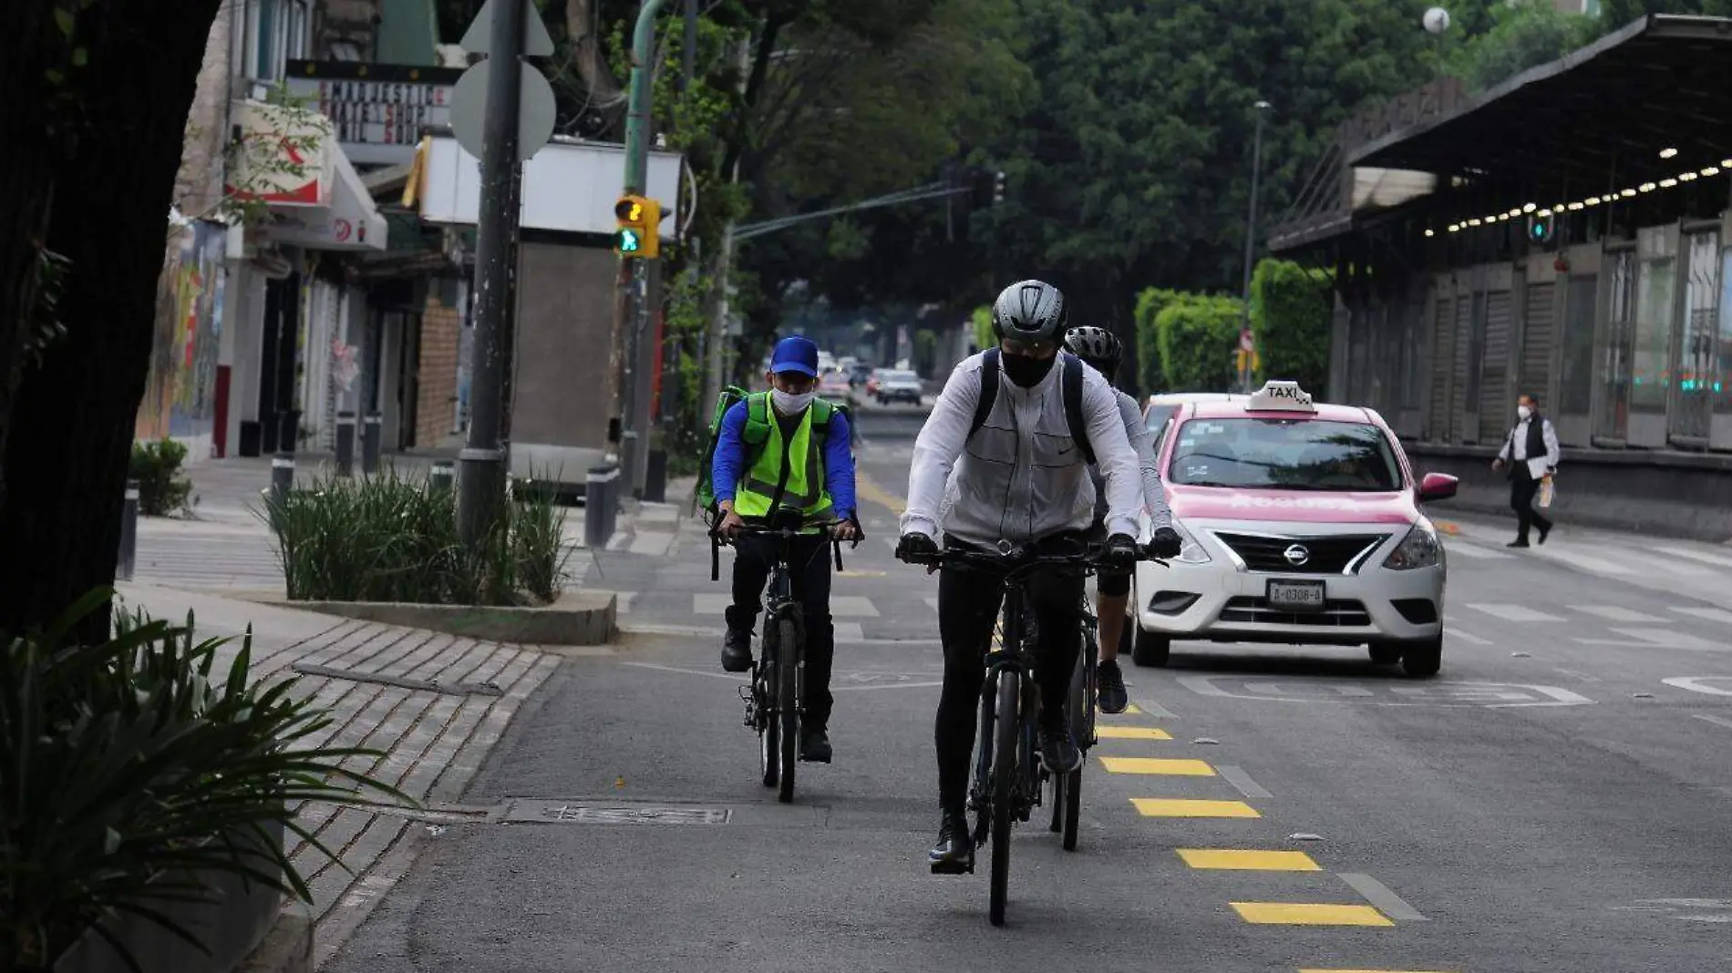
[[[1058,351],[1065,334],[1063,294],[1039,280],[1011,284],[992,305],[992,334],[999,346],[956,365],[920,429],[897,556],[937,552],[940,530],[946,545],[994,547],[999,540],[1048,549],[1074,545],[1095,521],[1095,485],[1084,461],[1091,448],[1105,474],[1107,559],[1117,568],[1133,566],[1136,514],[1143,500],[1136,454],[1107,381]],[[998,369],[996,377],[1003,381],[986,383],[996,386],[996,393],[975,428],[987,367]],[[1067,377],[1081,384],[1070,395],[1065,395]],[[1081,416],[1067,412],[1067,398]],[[1079,435],[1086,441],[1077,441]],[[1003,578],[977,570],[939,571],[944,691],[934,736],[940,824],[939,841],[928,855],[935,873],[973,866],[965,817],[968,757],[1003,587]],[[1069,772],[1082,762],[1065,718],[1082,578],[1036,577],[1029,583],[1029,601],[1043,699],[1041,760],[1053,772]]]

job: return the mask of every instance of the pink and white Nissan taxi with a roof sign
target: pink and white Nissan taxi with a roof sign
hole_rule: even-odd
[[[1415,480],[1377,412],[1315,403],[1290,381],[1179,403],[1159,441],[1185,549],[1136,568],[1138,665],[1199,639],[1368,646],[1436,675],[1446,564],[1420,504],[1453,497],[1453,476]]]

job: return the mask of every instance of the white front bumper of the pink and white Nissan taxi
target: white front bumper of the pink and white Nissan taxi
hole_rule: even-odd
[[[1382,563],[1406,537],[1403,525],[1306,525],[1211,521],[1186,530],[1209,552],[1205,564],[1138,564],[1133,604],[1138,623],[1169,639],[1356,646],[1425,641],[1443,632],[1446,564],[1393,571]],[[1216,532],[1263,535],[1389,533],[1353,573],[1254,571]],[[1271,580],[1323,582],[1322,611],[1268,602]]]

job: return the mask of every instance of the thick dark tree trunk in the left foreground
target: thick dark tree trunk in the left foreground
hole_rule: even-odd
[[[151,357],[156,282],[204,42],[218,0],[102,0],[78,78],[76,154],[59,170],[47,244],[71,260],[66,336],[24,372],[5,448],[0,632],[57,618],[113,583],[121,493]],[[52,7],[28,0],[26,7]],[[9,149],[12,151],[12,149]],[[9,194],[31,185],[5,185]],[[106,639],[109,613],[76,632]]]

